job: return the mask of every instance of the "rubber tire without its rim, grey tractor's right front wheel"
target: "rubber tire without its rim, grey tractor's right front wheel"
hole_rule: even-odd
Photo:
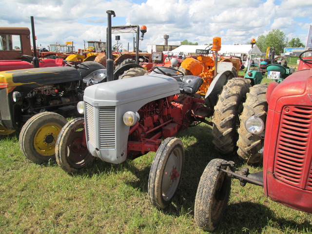
[[[184,162],[184,148],[183,143],[180,139],[176,137],[168,137],[166,138],[159,146],[156,155],[153,159],[149,180],[148,180],[148,196],[150,198],[151,203],[156,206],[158,209],[165,209],[172,201],[174,195],[168,199],[164,200],[162,197],[161,190],[161,182],[163,178],[164,169],[166,163],[168,161],[171,152],[175,149],[175,147],[181,147],[182,149],[182,167],[179,175],[179,180],[177,182],[176,190],[179,187],[179,183],[181,181],[181,174],[183,171],[183,162]],[[166,154],[166,152],[169,152]],[[165,155],[164,155],[165,154]],[[176,194],[176,191],[175,193]]]

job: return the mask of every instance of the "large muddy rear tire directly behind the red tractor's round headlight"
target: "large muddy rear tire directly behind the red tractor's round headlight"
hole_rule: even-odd
[[[240,115],[240,126],[237,130],[237,155],[249,164],[262,162],[262,153],[259,151],[263,147],[264,137],[261,135],[254,135],[247,131],[245,122],[247,118],[257,116],[266,122],[268,102],[266,100],[266,93],[268,84],[257,84],[250,88],[247,93],[246,102],[243,104],[244,109]]]

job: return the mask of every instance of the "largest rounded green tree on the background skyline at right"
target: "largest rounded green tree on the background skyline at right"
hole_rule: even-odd
[[[259,36],[257,39],[257,46],[262,52],[265,52],[268,47],[274,47],[275,54],[280,55],[286,47],[285,33],[279,29],[273,29],[266,36]]]

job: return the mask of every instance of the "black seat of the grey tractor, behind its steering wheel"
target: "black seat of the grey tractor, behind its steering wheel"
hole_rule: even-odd
[[[181,94],[194,95],[200,85],[203,83],[203,79],[195,76],[183,76],[183,77],[174,77],[180,88]]]

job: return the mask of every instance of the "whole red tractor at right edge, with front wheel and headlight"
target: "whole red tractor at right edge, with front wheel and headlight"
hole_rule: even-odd
[[[254,115],[245,122],[246,135],[255,136],[249,138],[254,139],[251,145],[261,146],[257,136],[265,129],[263,171],[235,171],[233,161],[211,160],[200,178],[195,198],[198,226],[215,230],[229,200],[231,178],[239,179],[242,186],[263,186],[264,194],[273,201],[312,213],[312,59],[301,56],[298,71],[280,84],[269,84],[266,121],[260,112],[251,111]],[[263,92],[259,95],[263,96]],[[249,97],[255,96],[256,92]]]

